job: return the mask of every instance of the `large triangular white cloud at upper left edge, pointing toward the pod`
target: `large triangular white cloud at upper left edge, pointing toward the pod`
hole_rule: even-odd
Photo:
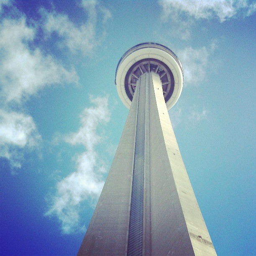
[[[30,49],[35,33],[25,18],[5,19],[0,25],[1,96],[7,102],[20,102],[47,85],[77,82],[74,70],[68,71],[38,48]]]

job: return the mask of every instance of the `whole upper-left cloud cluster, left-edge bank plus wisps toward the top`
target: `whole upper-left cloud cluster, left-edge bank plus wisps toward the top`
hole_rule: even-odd
[[[80,5],[88,14],[80,27],[67,15],[45,9],[41,9],[41,19],[29,18],[28,25],[28,18],[18,11],[15,2],[0,0],[0,12],[4,6],[10,10],[10,15],[7,10],[0,20],[0,157],[7,158],[15,168],[21,167],[23,151],[41,141],[26,111],[26,101],[47,86],[78,83],[73,68],[67,69],[51,52],[46,54],[40,44],[35,44],[38,31],[48,33],[48,38],[57,32],[69,51],[89,54],[103,36],[96,38],[98,13],[103,23],[111,17],[97,1],[82,1]]]

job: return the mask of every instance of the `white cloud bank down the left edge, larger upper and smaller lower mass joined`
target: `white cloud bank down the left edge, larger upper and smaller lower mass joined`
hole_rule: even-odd
[[[24,102],[47,85],[77,82],[74,70],[31,49],[35,34],[25,17],[0,23],[0,157],[15,168],[21,167],[21,149],[35,148],[41,140],[33,118],[24,113]]]

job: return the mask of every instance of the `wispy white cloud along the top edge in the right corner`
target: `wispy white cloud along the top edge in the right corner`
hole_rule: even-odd
[[[162,20],[172,20],[171,26],[175,36],[187,40],[196,20],[217,18],[220,22],[249,16],[256,10],[256,3],[248,0],[160,0]]]

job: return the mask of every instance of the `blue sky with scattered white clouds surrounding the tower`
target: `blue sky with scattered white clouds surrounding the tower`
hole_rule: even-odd
[[[128,110],[115,69],[179,57],[169,111],[218,255],[255,255],[256,2],[0,0],[0,254],[75,255]]]

